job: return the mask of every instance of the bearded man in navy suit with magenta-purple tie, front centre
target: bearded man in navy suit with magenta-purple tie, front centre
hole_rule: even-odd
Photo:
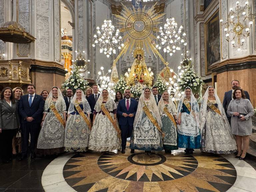
[[[122,136],[122,151],[125,153],[127,137],[132,135],[134,117],[137,111],[138,102],[131,99],[130,89],[124,91],[124,99],[120,100],[117,107],[117,114],[119,115],[119,125],[121,126]],[[134,153],[134,149],[131,149]]]

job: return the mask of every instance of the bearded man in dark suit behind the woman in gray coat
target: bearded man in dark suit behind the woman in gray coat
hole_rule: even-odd
[[[231,117],[227,114],[227,109],[228,109],[228,105],[229,105],[230,101],[233,100],[233,98],[232,98],[233,91],[236,88],[239,88],[239,81],[238,80],[231,81],[231,86],[232,86],[232,90],[229,90],[229,91],[225,92],[225,95],[224,95],[224,98],[223,98],[223,103],[222,103],[223,108],[225,110],[225,113],[227,115],[229,124],[230,124],[230,121],[231,121]],[[246,99],[250,100],[249,93],[247,91],[244,91],[244,94],[245,94]]]

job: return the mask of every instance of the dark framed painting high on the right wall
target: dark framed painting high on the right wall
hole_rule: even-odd
[[[220,61],[220,21],[217,10],[204,24],[205,40],[205,75],[209,75],[209,67]]]

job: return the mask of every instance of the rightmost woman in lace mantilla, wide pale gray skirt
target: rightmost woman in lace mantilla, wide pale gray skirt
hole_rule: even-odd
[[[237,150],[224,108],[212,86],[207,88],[203,96],[200,119],[201,151],[229,154]]]

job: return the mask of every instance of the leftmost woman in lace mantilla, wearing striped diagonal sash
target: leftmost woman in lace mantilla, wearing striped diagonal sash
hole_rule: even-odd
[[[54,113],[55,112],[55,113]],[[44,104],[42,128],[37,148],[48,150],[49,155],[63,152],[66,123],[66,104],[58,87],[53,87]]]

